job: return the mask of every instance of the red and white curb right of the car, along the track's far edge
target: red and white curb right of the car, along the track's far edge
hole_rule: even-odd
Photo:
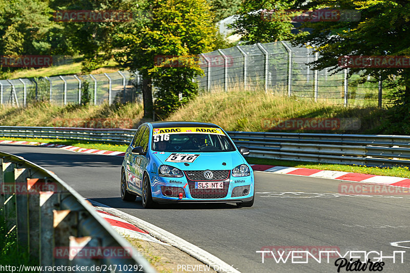
[[[318,170],[271,165],[250,164],[253,170],[267,171],[281,174],[302,175],[305,177],[327,178],[343,181],[374,183],[388,186],[410,188],[410,179],[402,177],[388,177],[384,175],[355,173],[346,171]]]

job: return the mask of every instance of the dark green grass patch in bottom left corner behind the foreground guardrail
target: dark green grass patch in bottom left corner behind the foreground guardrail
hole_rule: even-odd
[[[30,257],[27,247],[17,245],[16,229],[10,232],[7,230],[3,214],[3,209],[0,209],[0,265],[16,266],[17,270],[20,264],[37,265],[36,261]]]

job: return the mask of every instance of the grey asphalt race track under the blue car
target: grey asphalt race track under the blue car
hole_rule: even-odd
[[[255,251],[269,246],[316,246],[346,251],[406,251],[404,262],[385,259],[383,272],[408,272],[410,194],[401,196],[338,196],[338,181],[255,172],[255,204],[177,204],[144,209],[139,199],[119,197],[121,158],[81,154],[57,148],[0,145],[55,172],[85,198],[107,204],[148,221],[233,264],[242,272],[337,272],[335,259],[276,263]],[[303,193],[289,193],[303,192]],[[311,247],[311,248],[309,248]],[[370,258],[376,257],[371,255]],[[295,259],[301,261],[302,259]],[[357,260],[357,259],[354,259]],[[362,259],[361,259],[362,260]],[[368,268],[366,269],[368,270]],[[346,272],[342,268],[340,272]]]

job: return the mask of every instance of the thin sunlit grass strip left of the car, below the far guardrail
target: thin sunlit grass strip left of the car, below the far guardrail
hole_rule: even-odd
[[[111,144],[109,142],[93,142],[93,141],[79,141],[79,140],[59,140],[59,139],[24,139],[24,138],[2,138],[0,140],[13,140],[13,141],[31,141],[31,142],[44,142],[54,144],[71,145],[80,148],[108,150],[108,151],[121,151],[125,152],[128,145]]]

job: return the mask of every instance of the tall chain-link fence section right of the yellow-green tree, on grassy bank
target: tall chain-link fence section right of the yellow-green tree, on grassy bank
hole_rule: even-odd
[[[359,74],[347,78],[346,69],[336,74],[313,70],[307,64],[317,58],[311,48],[289,42],[216,50],[201,54],[204,76],[197,82],[203,91],[259,89],[344,105],[382,107],[387,102],[391,90],[384,83],[371,77],[363,81]]]

